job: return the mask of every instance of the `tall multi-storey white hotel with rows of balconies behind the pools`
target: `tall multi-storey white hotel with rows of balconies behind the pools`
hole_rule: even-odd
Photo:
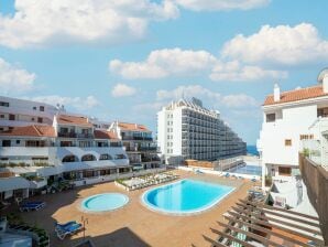
[[[157,146],[166,163],[215,161],[247,152],[245,142],[199,99],[181,99],[157,112]]]

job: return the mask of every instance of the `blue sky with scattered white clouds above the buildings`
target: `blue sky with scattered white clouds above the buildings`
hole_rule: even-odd
[[[197,97],[254,144],[265,96],[317,84],[327,0],[0,0],[0,95],[146,125]]]

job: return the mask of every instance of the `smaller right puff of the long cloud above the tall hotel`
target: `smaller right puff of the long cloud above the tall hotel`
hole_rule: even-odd
[[[216,82],[256,82],[265,78],[286,78],[287,72],[264,69],[254,65],[241,65],[238,61],[218,63],[210,78]]]

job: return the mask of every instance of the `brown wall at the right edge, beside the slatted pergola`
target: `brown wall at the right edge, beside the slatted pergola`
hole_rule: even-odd
[[[325,244],[328,245],[328,171],[299,154],[299,170],[307,187],[307,195],[316,208]]]

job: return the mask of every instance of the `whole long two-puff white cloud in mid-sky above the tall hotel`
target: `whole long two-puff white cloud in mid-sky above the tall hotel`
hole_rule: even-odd
[[[205,74],[212,80],[248,82],[287,76],[286,72],[244,65],[238,61],[223,62],[206,51],[181,49],[153,51],[144,62],[113,60],[109,63],[109,68],[128,79]]]

